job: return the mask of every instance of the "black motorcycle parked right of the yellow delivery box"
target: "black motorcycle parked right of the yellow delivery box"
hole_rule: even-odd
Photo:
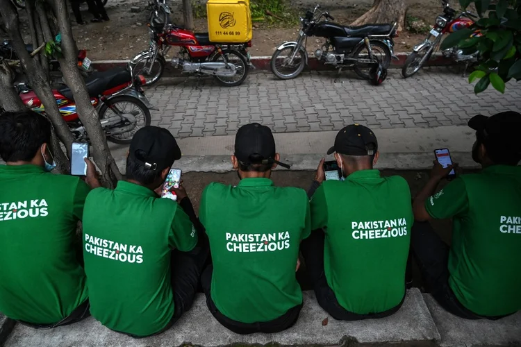
[[[296,42],[284,42],[275,51],[271,60],[275,76],[287,80],[295,78],[308,63],[306,51],[307,37],[325,37],[321,49],[315,51],[315,58],[324,64],[333,65],[339,71],[343,67],[354,66],[354,71],[364,79],[370,79],[375,66],[387,69],[394,54],[397,23],[367,24],[363,26],[343,26],[329,22],[335,19],[329,12],[315,15],[319,5],[306,16],[300,17],[302,29]],[[324,20],[321,20],[324,17]],[[374,72],[374,71],[373,71]]]

